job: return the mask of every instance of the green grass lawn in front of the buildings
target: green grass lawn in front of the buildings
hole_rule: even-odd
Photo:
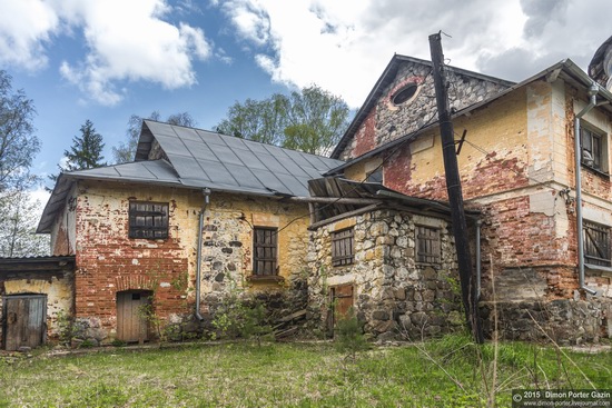
[[[516,388],[612,388],[612,352],[502,344],[495,399]],[[485,407],[494,350],[448,336],[374,348],[194,345],[0,359],[0,407]],[[580,367],[580,369],[578,367]]]

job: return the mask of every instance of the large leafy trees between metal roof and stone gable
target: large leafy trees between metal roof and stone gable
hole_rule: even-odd
[[[215,130],[219,133],[283,146],[314,155],[328,155],[348,127],[346,102],[318,86],[247,99],[228,109]]]

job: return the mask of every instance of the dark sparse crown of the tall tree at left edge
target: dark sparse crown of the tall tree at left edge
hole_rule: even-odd
[[[12,90],[12,78],[0,70],[0,192],[26,189],[37,178],[30,173],[40,142],[32,125],[36,109],[23,90]]]

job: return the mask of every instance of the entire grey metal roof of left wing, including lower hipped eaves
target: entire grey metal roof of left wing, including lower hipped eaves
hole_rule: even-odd
[[[160,150],[159,150],[159,149]],[[136,161],[61,173],[37,228],[49,233],[76,179],[209,188],[260,196],[308,196],[308,180],[340,160],[207,130],[145,120]]]

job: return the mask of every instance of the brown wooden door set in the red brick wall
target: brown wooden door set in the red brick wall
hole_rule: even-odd
[[[150,291],[117,292],[117,339],[142,342],[149,339],[145,308],[150,302]]]

